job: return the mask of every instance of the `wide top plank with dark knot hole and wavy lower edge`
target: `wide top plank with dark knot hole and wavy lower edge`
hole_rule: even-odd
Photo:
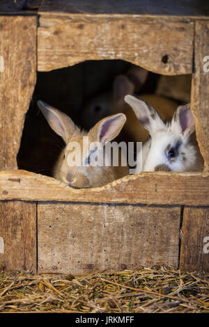
[[[42,14],[39,22],[40,71],[86,60],[123,59],[159,74],[192,72],[192,22],[70,14]]]

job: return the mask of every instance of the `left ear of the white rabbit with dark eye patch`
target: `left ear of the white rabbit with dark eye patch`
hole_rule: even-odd
[[[135,95],[126,95],[125,102],[130,104],[134,113],[137,115],[141,125],[147,129],[152,136],[157,129],[164,128],[164,122],[157,111],[143,99]]]

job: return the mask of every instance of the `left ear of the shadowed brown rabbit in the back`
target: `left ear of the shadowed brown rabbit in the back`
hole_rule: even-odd
[[[125,95],[134,93],[134,83],[125,75],[118,75],[114,79],[113,93],[116,102],[124,102]]]

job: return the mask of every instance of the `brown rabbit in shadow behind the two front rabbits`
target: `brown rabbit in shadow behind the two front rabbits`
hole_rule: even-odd
[[[130,106],[125,103],[124,97],[127,94],[139,94],[140,87],[145,83],[147,76],[148,71],[141,67],[132,67],[126,75],[116,76],[112,91],[93,97],[84,107],[82,111],[84,128],[90,128],[107,115],[121,112],[125,113],[127,118],[121,134],[123,141],[146,141],[148,131],[137,120]],[[170,120],[178,107],[177,102],[159,95],[142,94],[140,97],[154,106],[164,121]]]

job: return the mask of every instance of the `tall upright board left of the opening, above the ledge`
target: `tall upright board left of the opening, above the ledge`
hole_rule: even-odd
[[[0,168],[17,168],[24,115],[36,82],[36,17],[0,17]]]

